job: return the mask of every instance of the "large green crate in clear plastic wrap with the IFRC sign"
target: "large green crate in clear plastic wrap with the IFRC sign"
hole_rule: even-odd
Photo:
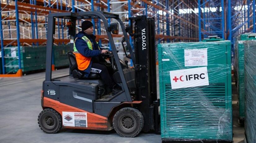
[[[158,44],[163,141],[232,142],[230,41]]]

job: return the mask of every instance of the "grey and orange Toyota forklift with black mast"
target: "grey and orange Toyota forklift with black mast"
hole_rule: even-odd
[[[56,18],[67,19],[70,23],[71,52],[67,57],[70,62],[70,73],[52,79],[51,63]],[[113,79],[121,87],[118,92],[105,94],[106,85],[99,75],[91,72],[85,77],[83,72],[78,70],[72,53],[76,20],[97,18],[103,21],[112,48],[111,53],[102,56],[110,61]],[[109,24],[107,18],[114,18],[117,22]],[[41,94],[43,111],[38,116],[38,125],[45,133],[57,133],[61,128],[103,131],[115,129],[121,137],[135,137],[141,131],[159,133],[155,21],[154,18],[146,18],[146,16],[129,18],[129,20],[131,25],[125,27],[118,14],[104,11],[48,15],[46,72]],[[133,67],[128,67],[128,61],[123,62],[119,59],[115,47],[112,34],[118,34],[119,24],[124,35],[122,47],[125,56],[131,59]],[[133,37],[134,51],[127,33]]]

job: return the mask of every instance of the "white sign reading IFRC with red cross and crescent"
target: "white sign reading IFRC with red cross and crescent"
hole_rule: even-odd
[[[170,71],[172,89],[209,85],[207,67]]]

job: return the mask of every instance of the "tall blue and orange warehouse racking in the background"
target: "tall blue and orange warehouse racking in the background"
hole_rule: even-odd
[[[94,10],[119,14],[127,25],[131,24],[129,17],[154,17],[156,43],[196,42],[218,35],[234,44],[237,35],[255,32],[255,0],[1,0],[1,49],[15,47],[18,55],[14,59],[19,60],[16,68],[21,69],[20,46],[46,44],[49,13]],[[81,29],[81,22],[77,21],[77,30]],[[101,20],[92,22],[101,47],[111,49]],[[69,44],[72,37],[68,35],[68,22],[58,18],[56,23],[54,44]],[[115,37],[115,43],[120,44],[122,33]],[[7,54],[1,50],[2,74],[8,74]],[[119,54],[124,56],[123,52]]]

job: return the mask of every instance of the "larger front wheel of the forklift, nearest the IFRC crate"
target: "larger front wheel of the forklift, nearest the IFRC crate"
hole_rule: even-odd
[[[141,112],[135,108],[122,108],[113,118],[113,127],[121,137],[135,137],[144,126]]]

